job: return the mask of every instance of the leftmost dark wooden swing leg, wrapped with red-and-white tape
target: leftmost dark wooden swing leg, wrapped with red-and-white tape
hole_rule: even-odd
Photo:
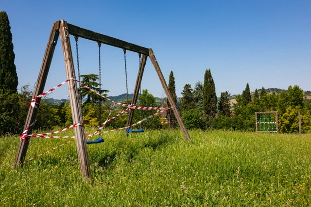
[[[38,76],[38,79],[35,85],[35,91],[34,91],[33,98],[43,93],[44,86],[45,86],[45,83],[48,77],[50,65],[52,62],[54,49],[55,49],[58,36],[59,36],[59,25],[60,25],[60,21],[54,22],[52,25],[52,31],[50,33],[48,45],[43,56],[43,61],[42,61],[39,76]],[[37,105],[39,105],[40,101],[41,101],[41,98],[38,98],[36,99],[35,102],[37,103]],[[35,122],[37,111],[38,111],[37,108],[34,108],[34,107],[29,108],[23,131],[25,131],[26,128],[28,128],[31,124]],[[32,133],[32,127],[25,134],[31,134],[31,133]],[[24,159],[25,159],[27,149],[28,149],[28,145],[29,145],[29,140],[24,142],[22,139],[20,139],[18,150],[17,150],[17,156],[14,162],[14,168],[17,167],[18,163],[21,167],[23,166]]]

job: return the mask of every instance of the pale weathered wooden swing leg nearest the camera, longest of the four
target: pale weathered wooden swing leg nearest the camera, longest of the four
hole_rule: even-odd
[[[72,59],[70,40],[69,40],[68,25],[66,21],[61,20],[59,31],[60,31],[60,38],[62,41],[67,79],[70,79],[70,78],[76,79],[75,72],[74,72],[74,64],[73,64],[73,59]],[[79,96],[78,96],[77,83],[73,80],[70,80],[68,82],[68,90],[69,90],[72,122],[73,124],[82,123],[83,120],[82,120],[82,112],[81,112],[80,101],[79,101]],[[87,148],[86,148],[86,136],[85,136],[84,131],[85,130],[84,130],[83,125],[74,127],[78,159],[80,162],[80,172],[85,177],[91,177],[90,164],[89,164]]]

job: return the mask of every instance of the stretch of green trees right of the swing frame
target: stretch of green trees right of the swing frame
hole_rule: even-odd
[[[173,72],[172,72],[173,73]],[[289,86],[279,94],[267,93],[265,88],[250,92],[249,84],[236,102],[230,103],[230,93],[222,92],[219,100],[215,92],[210,69],[204,76],[204,83],[198,81],[194,89],[190,84],[184,86],[180,111],[187,128],[231,129],[255,131],[255,113],[277,111],[278,130],[281,133],[299,131],[298,112],[301,113],[302,132],[311,131],[311,102],[304,98],[299,86]]]

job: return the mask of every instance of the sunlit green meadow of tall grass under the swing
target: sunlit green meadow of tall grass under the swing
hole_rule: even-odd
[[[0,138],[0,206],[311,206],[310,134],[189,133],[107,133],[88,181],[74,142],[13,169],[19,138]],[[26,159],[64,142],[32,138]]]

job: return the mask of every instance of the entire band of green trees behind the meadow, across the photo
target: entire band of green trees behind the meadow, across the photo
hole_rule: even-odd
[[[12,33],[6,12],[0,12],[0,136],[6,134],[20,134],[32,99],[33,91],[29,85],[22,86],[17,90],[18,78],[14,64],[15,54],[13,51]],[[82,75],[81,82],[91,87],[104,96],[108,90],[101,89],[97,82],[98,75]],[[267,93],[264,87],[255,90],[251,94],[249,84],[242,91],[241,95],[235,96],[236,102],[230,102],[230,93],[222,92],[217,98],[215,83],[211,70],[206,69],[204,82],[198,81],[194,88],[185,84],[178,101],[173,71],[169,76],[169,91],[173,101],[178,106],[181,117],[188,129],[231,129],[255,131],[255,112],[257,111],[278,111],[279,131],[282,133],[293,133],[298,131],[298,112],[301,113],[302,132],[311,131],[311,103],[304,99],[303,91],[299,86],[289,86],[288,90],[279,94]],[[113,117],[124,110],[120,108],[109,111],[111,103],[104,98],[95,95],[83,87],[79,88],[83,122],[86,127],[100,125],[108,117]],[[82,101],[84,100],[84,101]],[[178,103],[177,103],[178,101]],[[130,103],[131,100],[123,101]],[[155,96],[147,89],[142,90],[138,96],[138,106],[170,107],[168,100],[160,104],[156,102]],[[133,122],[146,118],[157,111],[135,110]],[[127,114],[124,113],[118,118],[108,122],[106,127],[124,127]],[[69,101],[53,104],[48,99],[41,100],[38,110],[35,130],[50,130],[55,127],[67,127],[72,123],[71,108]],[[155,116],[137,126],[137,128],[176,128],[178,123],[173,111]],[[134,128],[135,128],[134,127]]]

